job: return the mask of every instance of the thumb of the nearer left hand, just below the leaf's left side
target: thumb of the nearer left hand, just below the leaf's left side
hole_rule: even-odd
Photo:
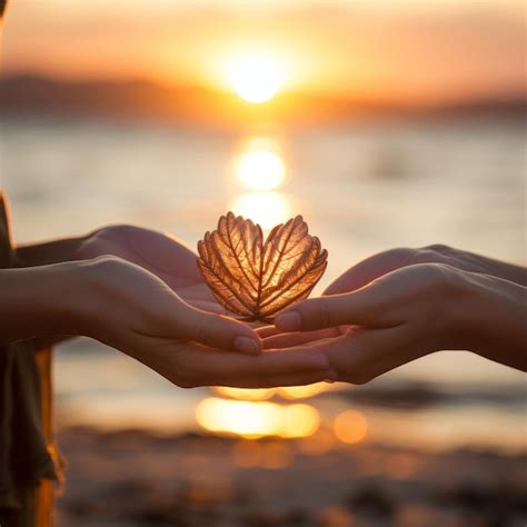
[[[181,302],[177,314],[178,337],[242,354],[259,354],[258,334],[243,322],[222,315],[206,312]]]

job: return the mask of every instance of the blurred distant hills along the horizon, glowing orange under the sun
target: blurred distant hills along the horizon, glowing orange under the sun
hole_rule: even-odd
[[[250,105],[233,93],[198,87],[165,87],[148,81],[63,82],[29,76],[0,79],[2,116],[141,118],[192,127],[237,129],[253,125],[287,127],[345,122],[365,117],[490,116],[524,119],[521,96],[475,100],[450,106],[410,108],[374,101],[280,93],[264,105]]]

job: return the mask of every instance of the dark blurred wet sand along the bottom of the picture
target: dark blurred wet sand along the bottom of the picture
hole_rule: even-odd
[[[59,435],[57,527],[524,527],[527,457],[141,430]]]

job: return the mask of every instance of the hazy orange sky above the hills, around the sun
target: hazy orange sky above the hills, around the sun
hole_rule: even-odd
[[[398,102],[525,90],[525,3],[511,0],[11,0],[4,72],[229,90],[265,58],[288,91]]]

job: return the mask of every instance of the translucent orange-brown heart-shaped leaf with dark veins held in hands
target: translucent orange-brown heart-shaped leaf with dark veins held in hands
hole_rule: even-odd
[[[198,267],[216,299],[242,320],[265,322],[311,292],[328,256],[301,216],[277,225],[264,241],[259,225],[232,212],[206,232],[198,252]]]

